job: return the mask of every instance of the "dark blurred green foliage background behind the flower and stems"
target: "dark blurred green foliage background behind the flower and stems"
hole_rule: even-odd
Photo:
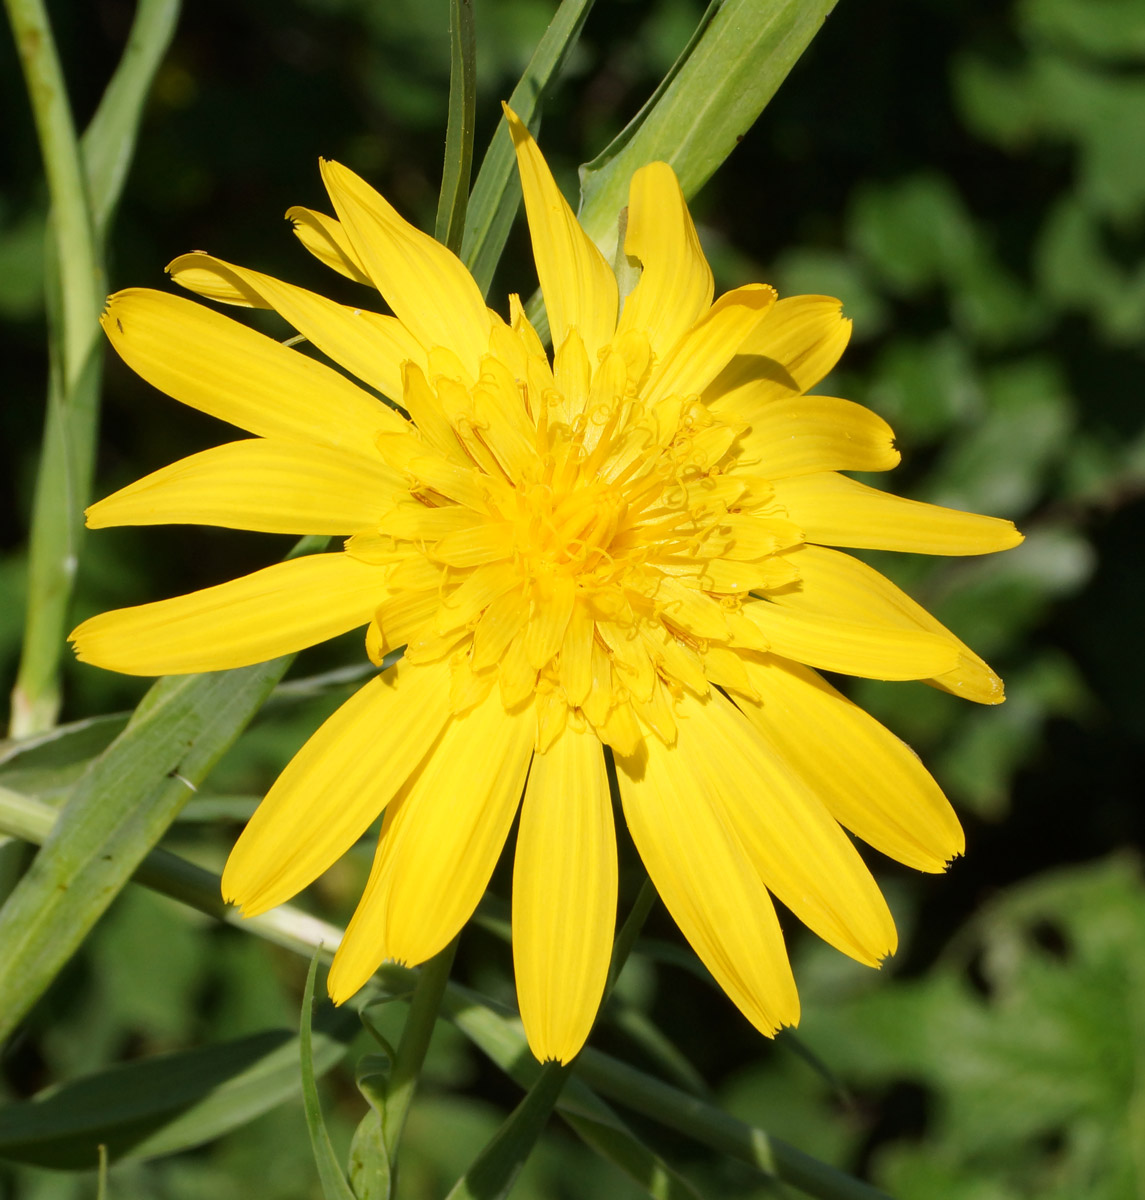
[[[132,7],[49,7],[83,125]],[[478,152],[552,8],[478,0]],[[566,194],[700,12],[695,0],[600,0],[542,126]],[[5,691],[44,380],[44,192],[6,38]],[[281,214],[322,206],[324,155],[432,227],[448,76],[443,0],[188,4],[110,239],[110,286],[163,287],[162,265],[200,248],[336,290]],[[646,1061],[651,1019],[694,1068],[679,1068],[679,1080],[903,1196],[1145,1192],[1143,131],[1138,0],[841,0],[694,204],[721,288],[767,280],[844,300],[855,340],[821,390],[891,420],[904,452],[892,486],[1013,517],[1027,541],[981,562],[879,560],[991,661],[1008,692],[1002,708],[975,709],[917,684],[852,689],[918,749],[967,826],[967,854],[945,878],[874,864],[903,932],[897,959],[868,972],[792,926],[805,1018],[797,1038],[773,1045],[670,954],[640,953],[594,1044]],[[492,302],[534,283],[518,228]],[[150,392],[112,355],[104,403],[100,494],[216,439],[212,422]],[[102,532],[89,539],[76,616],[220,582],[286,548],[222,530]],[[302,655],[294,674],[361,659],[358,641],[344,640]],[[269,706],[169,845],[220,865],[256,798],[350,686]],[[142,691],[143,682],[72,665],[64,719],[128,708]],[[35,761],[0,763],[0,782],[50,800],[64,782],[58,764],[36,770]],[[28,854],[0,846],[0,888]],[[344,919],[365,866],[352,856],[319,881],[314,910]],[[494,893],[508,895],[506,877]],[[494,898],[462,940],[456,977],[508,998],[496,918]],[[678,944],[663,910],[646,932]],[[5,1097],[294,1026],[302,974],[284,953],[128,888],[7,1048]],[[402,1193],[442,1195],[516,1096],[443,1027],[410,1118]],[[344,1151],[362,1111],[348,1073],[328,1076],[326,1100]],[[204,1148],[114,1166],[110,1195],[318,1195],[304,1129],[299,1105],[277,1108]],[[706,1195],[765,1194],[747,1169],[683,1139],[649,1138]],[[94,1187],[88,1172],[0,1163],[0,1195],[13,1200],[71,1200]],[[630,1194],[560,1130],[515,1193]]]

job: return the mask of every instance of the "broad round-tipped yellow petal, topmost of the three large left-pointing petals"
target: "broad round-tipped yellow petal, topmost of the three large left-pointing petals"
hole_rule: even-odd
[[[379,430],[407,427],[344,376],[192,300],[131,288],[101,324],[148,383],[250,433],[372,456]]]

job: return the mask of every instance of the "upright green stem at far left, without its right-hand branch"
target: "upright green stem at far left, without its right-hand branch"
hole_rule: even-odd
[[[43,155],[53,234],[47,262],[55,268],[48,288],[54,300],[48,413],[32,515],[26,628],[12,692],[11,732],[24,737],[50,728],[59,710],[60,643],[94,461],[103,264],[48,14],[42,0],[5,4]]]

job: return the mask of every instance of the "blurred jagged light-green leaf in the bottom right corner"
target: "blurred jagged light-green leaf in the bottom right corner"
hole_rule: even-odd
[[[1120,1200],[1145,1186],[1143,980],[1145,882],[1110,859],[1011,888],[927,977],[809,1012],[804,1033],[868,1087],[934,1097],[924,1156],[883,1151],[898,1194]]]

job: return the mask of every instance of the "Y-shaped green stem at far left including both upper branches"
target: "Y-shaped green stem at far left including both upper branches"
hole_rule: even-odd
[[[174,35],[179,0],[139,0],[122,58],[77,145],[43,0],[5,0],[52,202],[46,247],[48,403],[28,565],[28,604],[11,733],[50,728],[91,492],[100,408],[103,240],[119,203],[143,106]]]

